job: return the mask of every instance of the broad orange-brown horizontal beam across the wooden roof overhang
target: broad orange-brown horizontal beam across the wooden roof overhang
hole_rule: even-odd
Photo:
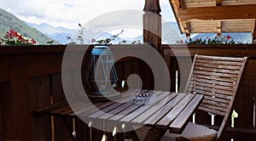
[[[188,20],[256,19],[256,4],[201,8],[179,8],[178,17]]]

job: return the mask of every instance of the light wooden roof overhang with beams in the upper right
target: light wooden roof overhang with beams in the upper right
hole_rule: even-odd
[[[256,38],[256,0],[169,0],[180,31],[251,32]]]

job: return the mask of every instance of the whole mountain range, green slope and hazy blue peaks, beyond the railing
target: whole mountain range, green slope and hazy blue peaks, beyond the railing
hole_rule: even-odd
[[[7,11],[0,8],[0,38],[3,37],[6,31],[12,28],[15,31],[20,32],[21,35],[25,37],[34,38],[38,44],[46,44],[46,42],[54,40],[56,43],[67,44],[71,42],[67,40],[67,37],[71,37],[73,42],[78,42],[79,30],[68,29],[65,27],[55,27],[53,25],[48,25],[46,23],[42,24],[32,24],[26,21],[19,20],[14,14],[10,14]],[[79,28],[79,26],[78,26]],[[125,32],[125,31],[124,31]],[[234,41],[251,43],[252,36],[251,33],[222,33],[222,37],[230,35]],[[95,32],[84,29],[84,43],[91,43],[91,39],[95,38],[96,41],[111,38],[113,34],[108,32]],[[214,39],[216,33],[194,33],[191,34],[190,38],[195,40],[196,38]],[[137,37],[118,37],[112,41],[113,44],[117,44],[125,40],[125,43],[131,43],[137,40],[143,42],[143,35]],[[164,44],[176,44],[177,41],[188,41],[184,34],[181,34],[176,22],[166,22],[162,24],[162,42]]]

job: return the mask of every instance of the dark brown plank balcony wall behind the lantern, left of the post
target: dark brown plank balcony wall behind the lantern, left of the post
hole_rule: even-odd
[[[76,119],[78,136],[73,138],[72,118],[55,116],[52,121],[50,116],[32,116],[32,110],[65,99],[61,84],[61,61],[65,46],[0,47],[0,50],[0,138],[89,140],[88,127],[79,119]],[[84,57],[84,71],[87,70],[89,57]],[[144,72],[145,69],[138,69],[141,65],[144,63],[138,59],[119,60],[115,64],[118,86],[131,74]],[[73,74],[76,75],[77,71],[73,71]],[[148,82],[147,76],[144,77],[143,81]],[[68,81],[74,82],[73,79],[71,76]],[[70,89],[76,90],[76,84],[73,83]],[[102,134],[97,130],[94,133],[98,136]]]

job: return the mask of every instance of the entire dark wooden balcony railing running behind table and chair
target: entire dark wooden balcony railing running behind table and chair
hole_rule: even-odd
[[[132,51],[132,47],[144,45],[113,45],[119,50]],[[128,48],[127,47],[131,47]],[[170,48],[171,47],[171,48]],[[55,116],[32,116],[32,111],[54,104],[65,99],[61,84],[61,61],[66,46],[20,46],[0,47],[0,137],[20,140],[86,140],[89,130],[83,121],[77,121],[78,136],[73,138],[72,118]],[[90,47],[91,48],[91,47]],[[230,129],[226,137],[235,139],[255,138],[253,127],[253,98],[256,98],[256,45],[162,45],[163,57],[169,67],[171,78],[171,91],[182,91],[186,79],[186,72],[190,66],[185,60],[191,59],[195,54],[215,56],[247,56],[247,66],[241,79],[234,109],[239,114],[235,119],[235,129]],[[130,49],[130,50],[129,50]],[[183,54],[188,49],[189,55]],[[90,49],[89,49],[90,51]],[[75,50],[79,54],[79,48]],[[176,54],[173,54],[175,52]],[[121,53],[121,52],[120,52]],[[84,57],[82,69],[88,66],[88,54]],[[177,63],[177,59],[184,60]],[[75,64],[75,60],[73,64]],[[179,68],[179,66],[183,67]],[[141,76],[143,88],[154,88],[154,76],[149,65],[142,59],[126,57],[115,64],[119,82],[126,81],[131,74]],[[180,75],[180,69],[184,74]],[[70,71],[77,71],[76,68]],[[84,71],[82,71],[82,76]],[[177,87],[176,87],[176,78]],[[72,81],[72,78],[70,78]],[[84,88],[86,85],[84,84]],[[125,84],[125,87],[127,85]],[[76,85],[73,84],[73,89]],[[218,125],[218,118],[215,118]],[[206,113],[197,113],[196,121],[210,123],[211,117]],[[95,130],[94,134],[100,136],[101,132]],[[0,139],[1,140],[1,139]]]

